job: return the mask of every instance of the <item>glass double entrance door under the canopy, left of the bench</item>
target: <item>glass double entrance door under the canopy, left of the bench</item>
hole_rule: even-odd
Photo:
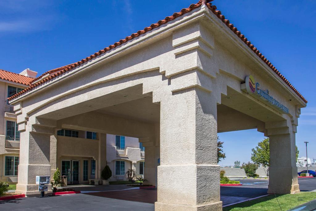
[[[78,160],[62,160],[61,175],[67,176],[70,184],[78,184],[80,178],[79,161]]]

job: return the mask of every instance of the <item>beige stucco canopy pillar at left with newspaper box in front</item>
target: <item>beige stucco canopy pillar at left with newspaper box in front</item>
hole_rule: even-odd
[[[26,195],[39,195],[36,176],[50,176],[50,141],[54,128],[38,125],[26,126],[21,131],[20,164],[18,170],[18,183],[16,193]],[[46,194],[52,193],[51,184]]]

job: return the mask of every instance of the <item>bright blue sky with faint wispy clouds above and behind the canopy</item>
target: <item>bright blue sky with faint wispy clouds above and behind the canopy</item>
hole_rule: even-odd
[[[197,0],[0,1],[0,69],[54,69],[81,60]],[[215,0],[213,2],[309,101],[296,144],[316,158],[316,1]],[[250,160],[264,139],[256,130],[220,133],[227,158]],[[236,153],[236,149],[238,149]]]

